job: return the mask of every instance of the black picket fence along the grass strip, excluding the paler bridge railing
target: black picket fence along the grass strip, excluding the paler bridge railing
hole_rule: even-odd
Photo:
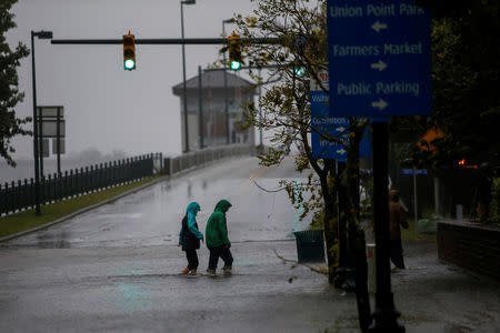
[[[40,180],[40,203],[79,196],[150,176],[158,160],[162,161],[161,154],[148,154],[49,174]],[[10,185],[0,184],[0,215],[33,208],[34,204],[33,179],[19,180]]]

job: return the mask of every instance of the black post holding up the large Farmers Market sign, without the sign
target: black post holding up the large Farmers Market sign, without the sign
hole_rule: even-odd
[[[377,293],[373,311],[373,325],[370,332],[404,332],[398,323],[400,313],[394,307],[391,292],[391,272],[389,263],[389,137],[387,122],[373,122],[373,193]]]

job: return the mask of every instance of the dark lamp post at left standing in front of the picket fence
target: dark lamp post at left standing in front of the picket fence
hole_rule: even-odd
[[[37,78],[34,69],[34,38],[52,39],[52,31],[31,31],[31,71],[33,79],[33,158],[34,158],[34,213],[41,215],[40,210],[40,170],[38,153],[38,115],[37,115]]]

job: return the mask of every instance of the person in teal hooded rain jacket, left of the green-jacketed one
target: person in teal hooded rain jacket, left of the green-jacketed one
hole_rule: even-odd
[[[182,251],[186,252],[188,259],[188,266],[186,266],[181,274],[197,274],[198,269],[198,254],[197,250],[200,249],[200,240],[203,241],[203,234],[198,229],[197,214],[200,211],[198,202],[191,202],[186,210],[186,215],[182,219],[182,226],[179,233],[179,246],[182,246]]]

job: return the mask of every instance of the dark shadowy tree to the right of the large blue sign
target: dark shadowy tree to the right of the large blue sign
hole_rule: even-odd
[[[479,204],[488,205],[491,175],[500,168],[500,1],[417,3],[432,14],[433,113],[393,119],[392,129],[411,129],[416,138],[441,129],[444,135],[429,142],[433,149],[411,144],[403,159],[408,165],[431,169],[457,169],[461,160],[466,167],[479,165],[478,181],[488,182]]]

